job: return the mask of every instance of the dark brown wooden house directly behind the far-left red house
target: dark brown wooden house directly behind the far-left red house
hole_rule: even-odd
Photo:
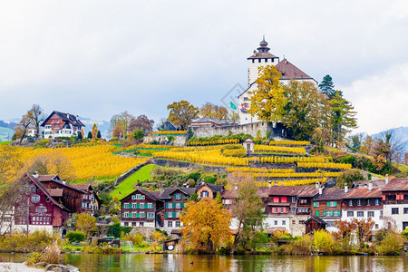
[[[71,213],[93,213],[100,207],[100,200],[89,184],[76,185],[77,189],[57,175],[40,175],[37,179],[53,194],[53,198],[63,203]]]

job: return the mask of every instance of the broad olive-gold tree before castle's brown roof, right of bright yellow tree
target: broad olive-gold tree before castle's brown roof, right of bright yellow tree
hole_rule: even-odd
[[[325,97],[314,83],[290,81],[284,86],[286,103],[282,122],[296,140],[310,140],[324,119]]]

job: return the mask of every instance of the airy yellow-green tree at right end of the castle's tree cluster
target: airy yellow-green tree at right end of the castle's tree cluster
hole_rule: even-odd
[[[343,98],[343,92],[336,91],[334,97],[329,101],[332,107],[331,112],[331,131],[332,143],[336,146],[343,142],[345,134],[349,129],[357,128],[355,111],[351,102]]]

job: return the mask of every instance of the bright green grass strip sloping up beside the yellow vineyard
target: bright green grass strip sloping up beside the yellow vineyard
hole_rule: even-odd
[[[132,174],[128,179],[121,181],[109,195],[113,198],[114,196],[118,196],[119,199],[129,195],[133,190],[133,185],[135,185],[139,181],[147,181],[151,179],[151,171],[154,170],[157,165],[149,164],[142,167],[140,170]],[[119,194],[121,192],[121,194]]]

